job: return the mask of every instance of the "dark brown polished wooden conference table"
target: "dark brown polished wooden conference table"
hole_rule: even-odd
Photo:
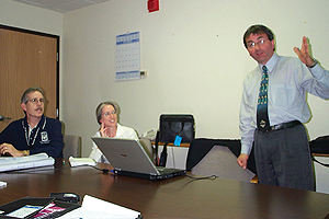
[[[110,164],[98,164],[111,169]],[[0,173],[0,205],[15,199],[75,193],[139,211],[144,218],[326,218],[329,195],[186,174],[162,181],[70,168],[56,159],[49,169]]]

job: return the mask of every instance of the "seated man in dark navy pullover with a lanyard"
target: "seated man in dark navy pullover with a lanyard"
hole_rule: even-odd
[[[39,88],[27,89],[21,99],[25,117],[14,120],[0,134],[0,153],[23,157],[46,152],[63,158],[61,124],[44,115],[45,97]]]

